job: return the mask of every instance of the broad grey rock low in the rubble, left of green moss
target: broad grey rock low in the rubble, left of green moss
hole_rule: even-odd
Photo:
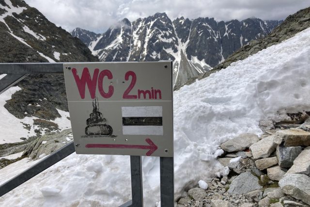
[[[259,189],[262,189],[262,186],[258,184],[258,178],[250,172],[245,172],[233,180],[228,192],[230,194],[244,194]]]

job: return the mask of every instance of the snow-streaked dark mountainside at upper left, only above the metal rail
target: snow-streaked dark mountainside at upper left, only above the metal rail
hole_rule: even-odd
[[[0,1],[0,44],[0,62],[97,60],[79,39],[23,0]]]

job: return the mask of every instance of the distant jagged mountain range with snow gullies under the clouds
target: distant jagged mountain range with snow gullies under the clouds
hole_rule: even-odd
[[[250,40],[270,33],[281,21],[248,18],[242,21],[215,21],[214,18],[171,21],[165,13],[124,18],[103,34],[75,29],[100,61],[174,61],[175,87],[189,78],[209,71]]]

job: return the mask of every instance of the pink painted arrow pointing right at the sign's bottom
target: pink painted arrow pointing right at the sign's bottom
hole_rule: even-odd
[[[149,151],[146,153],[146,156],[151,156],[153,152],[157,150],[157,146],[155,143],[152,142],[151,139],[147,138],[145,141],[149,145],[133,145],[133,144],[86,144],[86,148],[122,148],[122,149],[128,149],[128,148],[134,148],[134,149],[149,149]]]

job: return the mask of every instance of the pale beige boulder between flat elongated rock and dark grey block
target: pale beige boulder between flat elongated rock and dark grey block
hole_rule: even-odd
[[[282,138],[277,135],[265,137],[257,143],[252,144],[249,149],[254,159],[268,158],[273,153],[277,145],[282,142]]]

